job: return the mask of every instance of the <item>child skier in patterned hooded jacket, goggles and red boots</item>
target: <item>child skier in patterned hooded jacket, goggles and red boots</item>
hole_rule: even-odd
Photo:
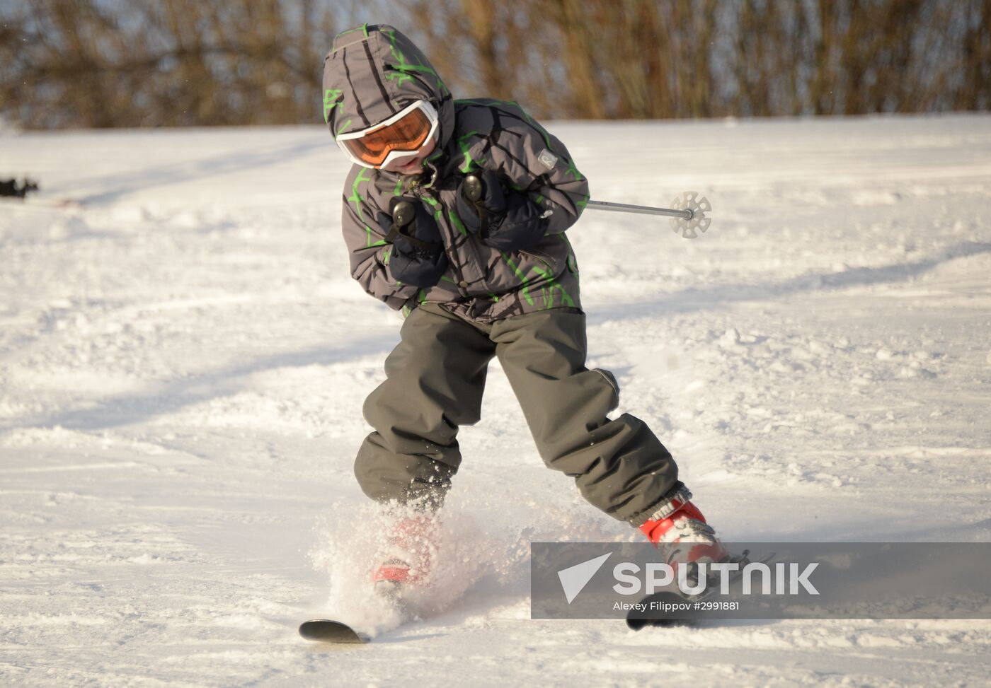
[[[431,530],[498,356],[544,462],[594,506],[663,546],[668,562],[726,552],[643,421],[609,420],[619,388],[585,367],[585,313],[565,236],[589,200],[568,149],[516,103],[453,100],[426,56],[386,25],[334,39],[323,112],[354,163],[342,229],[351,272],[401,310],[401,341],[368,397],[362,490],[415,505],[373,578],[427,579]]]

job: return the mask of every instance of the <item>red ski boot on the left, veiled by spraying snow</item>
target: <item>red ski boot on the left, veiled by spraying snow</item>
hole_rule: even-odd
[[[376,590],[396,593],[406,586],[425,586],[436,554],[436,516],[414,516],[398,521],[372,571]]]

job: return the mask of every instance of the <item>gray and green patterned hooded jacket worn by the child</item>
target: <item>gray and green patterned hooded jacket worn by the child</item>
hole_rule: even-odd
[[[324,119],[332,135],[382,122],[415,100],[440,113],[438,147],[426,171],[400,176],[354,165],[344,188],[342,229],[351,273],[372,296],[404,314],[435,301],[446,310],[492,322],[548,308],[580,308],[578,264],[565,237],[589,200],[587,179],[567,148],[516,103],[454,100],[426,56],[385,25],[339,34],[324,58]],[[540,218],[526,249],[489,246],[457,212],[457,188],[470,172],[495,170],[524,194]],[[393,246],[383,221],[389,200],[418,196],[434,213],[449,267],[436,285],[403,284],[389,270]],[[386,223],[387,227],[387,223]]]

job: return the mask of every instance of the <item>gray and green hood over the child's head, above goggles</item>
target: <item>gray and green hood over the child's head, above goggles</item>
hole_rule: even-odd
[[[331,136],[372,127],[415,100],[440,114],[439,147],[454,132],[454,101],[420,49],[385,24],[341,32],[323,58],[323,119]]]

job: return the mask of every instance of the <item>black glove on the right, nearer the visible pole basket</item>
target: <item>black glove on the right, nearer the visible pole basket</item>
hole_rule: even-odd
[[[462,180],[458,186],[458,215],[470,232],[482,238],[483,244],[500,250],[534,246],[547,233],[547,220],[540,217],[537,205],[525,193],[503,191],[498,175],[491,169],[479,170]]]

